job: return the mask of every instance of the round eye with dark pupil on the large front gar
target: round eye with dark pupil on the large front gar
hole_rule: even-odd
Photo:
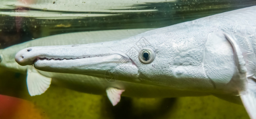
[[[155,59],[155,51],[152,48],[145,47],[139,54],[140,62],[151,63]]]

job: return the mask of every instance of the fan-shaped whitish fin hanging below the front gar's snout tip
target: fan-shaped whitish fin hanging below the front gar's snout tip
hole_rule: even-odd
[[[52,79],[37,72],[33,66],[27,69],[27,89],[31,96],[43,94],[49,87]]]

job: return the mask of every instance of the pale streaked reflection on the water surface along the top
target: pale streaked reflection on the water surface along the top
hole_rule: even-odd
[[[126,12],[157,11],[146,6],[155,2],[176,2],[176,0],[1,0],[0,9],[29,8],[31,10],[0,11],[0,14],[37,19],[103,17]]]

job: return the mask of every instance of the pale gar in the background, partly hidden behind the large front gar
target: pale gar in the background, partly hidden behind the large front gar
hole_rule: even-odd
[[[112,41],[130,36],[138,35],[145,31],[152,29],[124,29],[124,30],[106,30],[106,31],[91,31],[91,32],[78,32],[66,33],[61,35],[47,36],[31,40],[14,46],[10,46],[0,50],[0,68],[20,73],[27,73],[27,83],[29,94],[31,96],[39,95],[45,92],[49,84],[42,85],[41,81],[52,80],[55,84],[64,85],[67,88],[78,90],[80,92],[93,93],[105,95],[105,89],[109,85],[125,86],[128,92],[124,92],[122,96],[130,97],[178,97],[178,96],[203,96],[209,95],[208,93],[193,92],[193,91],[179,91],[170,88],[145,85],[138,83],[130,83],[124,81],[116,81],[115,83],[108,82],[99,77],[92,77],[88,75],[76,75],[68,73],[50,73],[39,71],[33,66],[21,66],[15,61],[15,54],[27,47],[31,46],[49,46],[49,45],[67,45],[67,44],[86,44],[93,42]],[[74,80],[76,79],[76,80]],[[65,81],[68,81],[65,83]],[[69,81],[72,81],[70,83]],[[63,83],[64,82],[64,83]],[[84,83],[81,83],[84,82]],[[34,83],[34,84],[31,84]],[[30,85],[29,85],[30,84]],[[42,89],[44,88],[44,89]],[[93,90],[92,90],[93,89]],[[148,93],[145,93],[148,91]],[[150,93],[149,93],[150,92]],[[168,93],[168,94],[166,94]],[[189,95],[188,95],[189,94]]]

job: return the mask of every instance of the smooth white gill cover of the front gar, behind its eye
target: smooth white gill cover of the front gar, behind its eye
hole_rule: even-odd
[[[245,65],[239,44],[233,36],[223,31],[209,33],[204,69],[216,90],[236,96],[242,94],[247,82]]]

